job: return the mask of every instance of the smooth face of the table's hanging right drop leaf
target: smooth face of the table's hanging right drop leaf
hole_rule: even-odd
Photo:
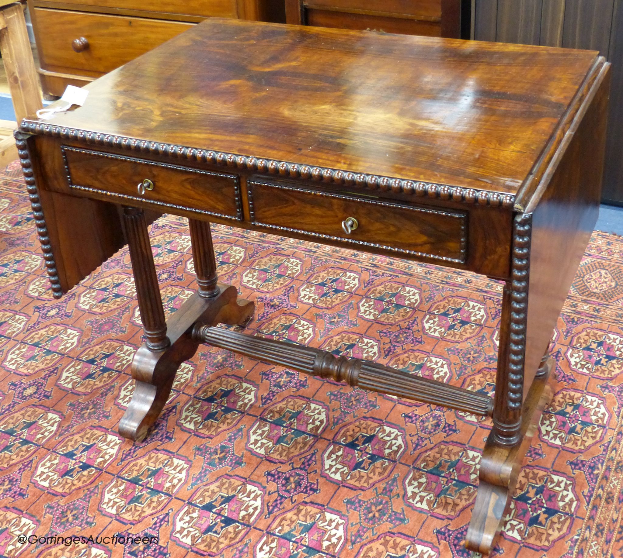
[[[558,160],[526,207],[533,230],[525,385],[547,349],[599,214],[609,90],[607,66],[591,89],[586,113],[574,121]]]

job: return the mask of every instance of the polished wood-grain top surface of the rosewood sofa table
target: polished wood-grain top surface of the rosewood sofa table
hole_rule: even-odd
[[[514,195],[596,60],[212,18],[91,83],[84,106],[45,123]]]

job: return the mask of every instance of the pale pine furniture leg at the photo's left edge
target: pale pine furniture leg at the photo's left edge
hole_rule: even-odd
[[[25,6],[14,0],[0,0],[0,52],[17,118],[17,121],[0,120],[1,166],[17,159],[13,138],[17,122],[42,107],[37,70],[24,19]]]

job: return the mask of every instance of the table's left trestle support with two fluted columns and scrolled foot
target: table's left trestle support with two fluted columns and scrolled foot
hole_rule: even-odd
[[[193,327],[219,323],[244,325],[253,315],[254,305],[240,300],[234,286],[217,285],[210,226],[191,220],[199,289],[169,317],[167,326],[143,212],[125,207],[123,219],[146,342],[138,348],[132,361],[132,377],[136,384],[119,423],[119,433],[130,440],[143,440],[171,394],[179,365],[193,357],[199,346],[191,334]]]

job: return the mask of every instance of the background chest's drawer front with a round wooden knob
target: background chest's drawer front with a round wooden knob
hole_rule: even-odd
[[[43,67],[110,72],[193,24],[36,8],[37,49]],[[72,47],[75,39],[87,43]]]

